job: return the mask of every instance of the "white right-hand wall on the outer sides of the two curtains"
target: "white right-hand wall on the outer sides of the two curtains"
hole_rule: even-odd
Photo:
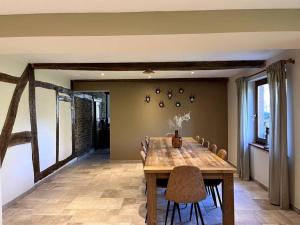
[[[267,64],[288,58],[296,60],[294,65],[289,65],[287,93],[291,201],[295,207],[300,209],[300,192],[297,192],[297,190],[300,190],[300,138],[298,138],[300,136],[300,50],[286,51],[268,60]],[[241,75],[247,76],[248,73]],[[237,77],[231,78],[228,82],[228,158],[235,165],[237,156],[237,95],[235,79]]]

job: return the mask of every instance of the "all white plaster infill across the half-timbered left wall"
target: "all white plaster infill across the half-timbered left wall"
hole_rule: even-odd
[[[23,70],[26,67],[26,62],[19,62],[15,60],[11,60],[9,57],[0,56],[0,71],[3,73],[7,73],[13,76],[20,76]],[[48,76],[47,71],[37,71],[36,79],[41,81],[51,82],[60,86],[64,86],[69,88],[69,80],[61,77],[61,76]],[[0,82],[0,129],[2,130],[7,110],[10,104],[10,100],[14,91],[14,84],[8,84]],[[48,146],[55,147],[55,139],[53,139],[53,134],[55,135],[55,124],[56,120],[53,120],[51,114],[53,111],[55,112],[55,104],[53,103],[53,98],[51,98],[51,91],[49,90],[39,90],[41,88],[36,89],[36,97],[37,97],[37,119],[38,119],[38,132],[39,132],[39,143],[40,146],[40,157],[41,157],[41,167],[43,165],[48,165],[52,162],[52,158],[48,155],[47,150],[49,150]],[[40,93],[43,92],[44,93]],[[55,92],[52,91],[55,96]],[[55,101],[55,98],[54,98]],[[47,112],[45,112],[47,110]],[[67,112],[64,112],[66,110]],[[62,108],[62,113],[68,114],[69,109]],[[54,118],[55,114],[54,114]],[[65,118],[65,117],[64,117]],[[61,124],[65,127],[70,127],[68,124],[70,123],[70,119],[64,119],[61,121]],[[53,123],[54,122],[54,123]],[[43,125],[43,126],[41,126]],[[67,128],[66,128],[67,129]],[[19,104],[19,110],[16,117],[16,122],[13,128],[13,132],[20,131],[30,131],[30,119],[29,119],[29,103],[28,103],[28,86],[26,86],[24,93],[21,97],[21,101]],[[46,131],[46,135],[50,133],[50,136],[47,136],[47,139],[44,138]],[[70,132],[65,131],[61,132],[62,135],[66,134],[65,139],[70,139]],[[43,136],[44,135],[44,136]],[[65,140],[66,143],[70,143]],[[67,146],[67,145],[66,145]],[[51,149],[52,151],[53,149]],[[55,148],[54,148],[55,152]],[[68,154],[69,148],[66,150]],[[33,178],[33,167],[32,167],[32,151],[31,144],[23,144],[11,147],[7,150],[2,168],[1,168],[1,194],[2,198],[0,200],[2,205],[12,201],[17,198],[24,192],[28,191],[30,188],[34,186],[34,178]],[[2,210],[1,210],[2,212]]]

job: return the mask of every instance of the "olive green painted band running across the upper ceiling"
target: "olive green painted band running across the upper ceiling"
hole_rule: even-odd
[[[300,9],[0,15],[0,37],[299,31]]]

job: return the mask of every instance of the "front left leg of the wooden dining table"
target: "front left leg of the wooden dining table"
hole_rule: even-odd
[[[156,225],[156,174],[146,174],[147,179],[147,224]]]

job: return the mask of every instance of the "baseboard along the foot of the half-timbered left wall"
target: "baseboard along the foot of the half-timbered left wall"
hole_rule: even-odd
[[[23,194],[19,195],[18,197],[16,197],[15,199],[11,200],[10,202],[7,202],[6,204],[2,205],[2,211],[5,210],[5,209],[7,209],[7,208],[9,208],[9,207],[11,207],[12,205],[16,204],[19,200],[21,200],[22,198],[24,198],[26,195],[32,193],[41,184],[43,184],[46,181],[48,181],[52,176],[54,176],[55,174],[57,174],[61,170],[65,169],[66,167],[70,166],[71,164],[75,163],[77,160],[78,160],[77,158],[72,159],[70,162],[68,162],[67,164],[65,164],[64,166],[62,166],[61,168],[59,168],[58,170],[54,171],[53,173],[51,173],[50,175],[48,175],[44,179],[42,179],[42,180],[38,181],[37,183],[35,183],[32,188],[30,188],[29,190],[25,191]]]

